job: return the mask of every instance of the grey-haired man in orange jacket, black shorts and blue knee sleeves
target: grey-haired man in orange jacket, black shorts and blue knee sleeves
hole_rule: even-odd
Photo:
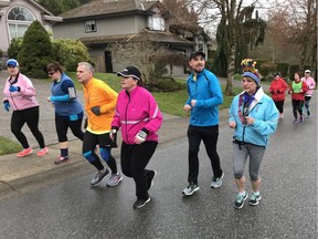
[[[113,141],[109,137],[110,124],[115,114],[118,94],[105,82],[94,77],[94,67],[87,62],[80,62],[76,77],[83,84],[85,111],[87,114],[87,126],[83,139],[83,156],[98,170],[92,186],[97,186],[110,174],[104,167],[97,154],[96,146],[99,145],[99,154],[112,170],[107,186],[116,186],[123,179],[117,172],[117,164],[110,154]]]

